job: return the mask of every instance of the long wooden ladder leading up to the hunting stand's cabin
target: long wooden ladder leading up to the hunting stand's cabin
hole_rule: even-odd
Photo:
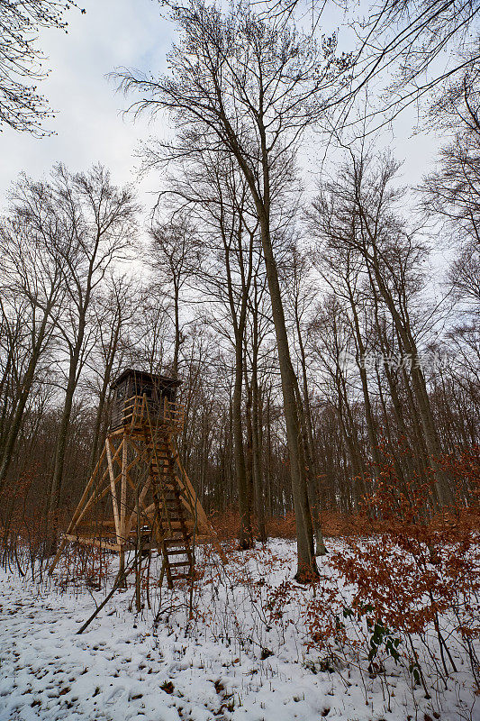
[[[165,575],[168,588],[172,589],[174,581],[193,578],[194,558],[190,547],[190,534],[186,526],[186,512],[180,498],[169,436],[161,434],[158,441],[156,440],[149,415],[144,434],[150,488],[155,507],[152,535],[156,535],[158,551],[163,556],[160,585]]]

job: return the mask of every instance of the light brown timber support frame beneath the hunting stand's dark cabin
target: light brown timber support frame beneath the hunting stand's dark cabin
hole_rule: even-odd
[[[127,548],[135,547],[135,544],[131,543],[131,541],[133,538],[143,536],[144,531],[142,528],[145,528],[146,531],[148,529],[150,534],[150,541],[146,545],[142,543],[143,548],[150,550],[154,546],[153,539],[156,538],[158,550],[164,553],[168,564],[168,550],[162,545],[164,534],[168,533],[168,531],[171,531],[176,537],[177,534],[183,534],[187,549],[189,534],[192,533],[195,521],[198,528],[198,532],[195,534],[197,542],[206,538],[213,540],[216,536],[200,504],[195,488],[186,475],[186,470],[183,468],[172,440],[172,434],[176,433],[176,423],[179,420],[176,413],[165,402],[164,417],[152,419],[149,415],[149,405],[146,397],[143,396],[141,402],[140,397],[133,400],[129,424],[123,424],[121,428],[113,431],[105,441],[94,474],[89,480],[75,514],[68,525],[67,534],[62,539],[57,554],[58,557],[68,541],[94,545],[97,548],[120,552],[120,567],[122,569],[124,566],[124,552]],[[152,420],[154,424],[152,424]],[[118,443],[119,441],[120,443]],[[115,443],[118,443],[117,447],[115,447]],[[131,444],[131,451],[135,455],[130,463],[128,462],[129,444]],[[105,458],[107,468],[102,473],[102,463]],[[154,465],[156,467],[155,473],[158,474],[158,478],[150,468],[150,462],[154,463],[154,461],[156,463],[156,466]],[[149,470],[147,478],[141,475],[138,476],[140,479],[138,488],[130,475],[131,469],[135,466],[138,466],[139,469],[147,468]],[[139,473],[141,473],[141,470],[139,470]],[[178,523],[172,522],[171,525],[168,512],[169,506],[165,494],[167,492],[166,488],[172,487],[164,485],[167,481],[175,483],[180,492],[178,498],[181,507],[177,507],[180,519]],[[119,482],[120,488],[117,488]],[[127,516],[127,501],[130,497],[129,488],[133,490],[135,497],[138,497],[138,502],[134,510],[129,511]],[[147,505],[149,492],[153,492],[154,503]],[[84,523],[82,533],[80,524],[85,518],[86,512],[95,503],[102,500],[106,494],[110,494],[112,497],[113,521],[110,518],[99,525]],[[164,504],[165,507],[163,507]],[[186,508],[187,514],[185,514],[185,511],[182,513],[182,507]],[[113,543],[113,537],[116,543]],[[55,568],[58,557],[54,559],[50,572]],[[171,578],[169,578],[169,585],[172,585]]]

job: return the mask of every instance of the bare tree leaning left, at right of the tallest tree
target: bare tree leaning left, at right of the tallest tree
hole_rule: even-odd
[[[375,302],[385,305],[391,315],[402,358],[411,365],[410,378],[436,477],[436,493],[439,504],[444,505],[450,492],[439,468],[441,445],[421,369],[419,333],[412,313],[412,303],[423,284],[421,260],[425,249],[395,214],[402,193],[392,182],[397,169],[398,164],[389,157],[374,161],[351,153],[351,162],[342,167],[340,178],[325,184],[315,204],[317,222],[331,245],[358,253]],[[402,366],[406,377],[403,361]]]

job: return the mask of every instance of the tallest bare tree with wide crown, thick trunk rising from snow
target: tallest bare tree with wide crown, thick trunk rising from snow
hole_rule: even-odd
[[[312,519],[271,218],[282,191],[292,186],[304,130],[322,117],[322,96],[349,62],[336,58],[334,38],[320,47],[292,27],[276,27],[243,11],[222,15],[202,0],[177,8],[174,17],[182,39],[170,53],[170,75],[150,79],[125,71],[117,78],[125,91],[141,94],[135,113],[170,112],[177,139],[163,149],[165,159],[192,157],[205,149],[227,151],[249,187],[276,329],[297,519],[297,578],[306,579],[317,572]]]

